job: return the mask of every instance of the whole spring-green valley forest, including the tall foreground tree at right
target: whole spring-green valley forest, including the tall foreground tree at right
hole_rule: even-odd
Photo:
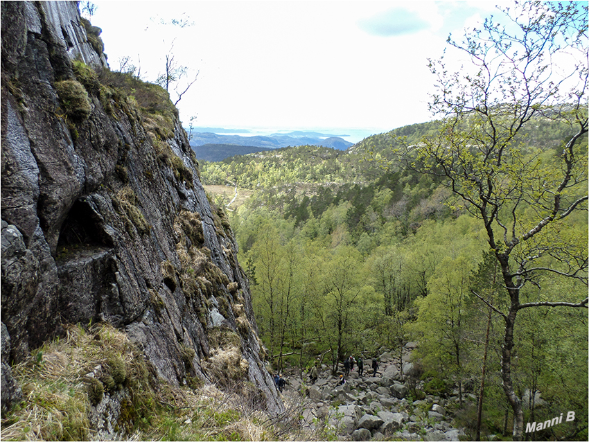
[[[205,185],[252,192],[227,213],[277,370],[418,342],[424,391],[457,393],[473,438],[586,439],[586,8],[544,8],[449,39],[471,64],[430,62],[429,123],[202,161]]]

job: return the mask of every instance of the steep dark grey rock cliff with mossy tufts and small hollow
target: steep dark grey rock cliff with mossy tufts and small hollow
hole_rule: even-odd
[[[249,380],[280,412],[236,242],[164,89],[110,72],[76,2],[3,1],[1,31],[3,385],[65,324],[103,321],[157,378]]]

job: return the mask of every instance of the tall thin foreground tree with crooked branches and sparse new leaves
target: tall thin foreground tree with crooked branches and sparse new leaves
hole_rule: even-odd
[[[587,9],[574,2],[514,3],[502,11],[504,25],[491,17],[462,42],[448,38],[468,64],[452,72],[444,57],[430,61],[437,86],[430,108],[443,116],[441,130],[400,150],[405,166],[443,177],[484,223],[506,296],[480,299],[505,321],[502,382],[514,440],[523,435],[511,378],[518,312],[588,304],[586,288],[578,299],[563,293],[554,301],[540,285],[544,277],[587,285],[587,231],[567,224],[588,200]],[[567,128],[559,152],[525,143],[538,118]]]

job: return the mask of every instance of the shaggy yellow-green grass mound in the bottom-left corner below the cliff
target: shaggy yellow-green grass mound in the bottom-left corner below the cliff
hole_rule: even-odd
[[[91,437],[89,386],[100,380],[88,373],[109,374],[109,357],[132,364],[126,335],[110,326],[85,331],[70,326],[65,339],[56,339],[12,368],[24,403],[2,422],[2,440],[87,440]],[[100,369],[97,369],[100,367]],[[94,384],[85,380],[94,379]]]

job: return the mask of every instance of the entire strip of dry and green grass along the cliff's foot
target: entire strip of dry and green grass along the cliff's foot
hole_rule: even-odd
[[[0,439],[18,441],[97,440],[91,428],[88,373],[94,380],[124,382],[132,403],[121,409],[113,426],[125,440],[279,440],[276,421],[260,411],[263,404],[248,400],[249,366],[241,357],[240,337],[231,330],[216,330],[211,338],[214,355],[207,361],[216,384],[174,387],[146,383],[143,358],[127,335],[97,324],[89,330],[69,326],[65,339],[56,339],[13,367],[24,401],[2,419]],[[193,352],[186,350],[185,359]],[[204,367],[203,367],[204,368]],[[245,385],[245,386],[244,386]],[[222,386],[222,389],[220,388]],[[254,388],[254,387],[252,387]],[[105,396],[107,389],[105,389]],[[124,416],[123,416],[124,414]]]

